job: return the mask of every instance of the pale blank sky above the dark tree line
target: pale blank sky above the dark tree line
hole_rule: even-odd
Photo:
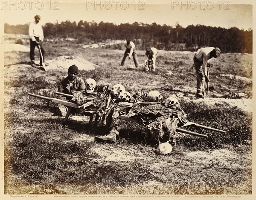
[[[10,25],[32,22],[36,14],[41,22],[80,20],[97,23],[157,23],[175,26],[205,25],[223,28],[253,29],[253,1],[1,1],[3,21]],[[48,3],[47,3],[48,2]],[[129,4],[127,4],[129,2]],[[134,3],[136,2],[136,4]],[[213,2],[215,4],[213,4]],[[222,2],[222,5],[219,4]],[[111,4],[110,4],[111,3]],[[234,4],[236,3],[236,4]],[[247,3],[247,5],[237,4]],[[255,17],[255,16],[254,16]],[[254,22],[255,23],[255,22]]]

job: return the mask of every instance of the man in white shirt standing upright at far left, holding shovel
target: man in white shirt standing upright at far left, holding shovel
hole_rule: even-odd
[[[35,21],[29,24],[29,41],[30,41],[30,60],[31,66],[36,67],[35,65],[35,46],[41,46],[41,52],[44,59],[44,48],[42,46],[42,42],[44,41],[44,32],[42,25],[40,23],[41,17],[40,15],[35,15]],[[39,49],[39,47],[38,47]],[[40,52],[39,52],[40,54]],[[42,57],[40,54],[40,66],[42,66]]]

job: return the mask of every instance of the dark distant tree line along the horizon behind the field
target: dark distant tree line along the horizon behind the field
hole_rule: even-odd
[[[5,23],[5,33],[28,34],[28,26],[10,26]],[[175,26],[160,26],[156,23],[133,24],[114,23],[99,24],[80,20],[79,23],[69,20],[61,23],[46,23],[44,35],[48,38],[75,38],[78,43],[102,43],[110,40],[125,40],[130,38],[136,42],[138,49],[154,46],[165,50],[191,50],[200,47],[219,47],[222,52],[252,53],[253,31],[240,30],[236,27],[225,29],[221,27],[190,25],[186,28],[178,23]]]

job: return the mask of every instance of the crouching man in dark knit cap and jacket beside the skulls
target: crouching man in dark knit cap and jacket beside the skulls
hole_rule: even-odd
[[[72,94],[72,91],[84,91],[85,84],[84,80],[77,77],[79,74],[79,69],[76,65],[72,65],[69,67],[67,71],[67,77],[64,78],[59,84],[58,84],[58,92],[64,93],[64,94]],[[58,99],[61,100],[71,100],[72,97],[65,97],[64,95],[58,94]],[[67,107],[61,104],[58,104],[59,114],[64,117],[67,114]]]

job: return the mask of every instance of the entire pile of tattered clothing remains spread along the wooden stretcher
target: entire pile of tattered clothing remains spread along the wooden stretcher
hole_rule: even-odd
[[[180,108],[166,108],[160,103],[147,106],[140,103],[117,102],[111,98],[108,85],[99,85],[93,93],[86,94],[81,91],[73,91],[72,101],[76,102],[84,112],[95,113],[99,116],[99,122],[107,125],[110,130],[118,132],[119,115],[136,117],[148,127],[155,138],[164,135],[169,139],[175,135],[177,126],[183,126],[186,113]]]

